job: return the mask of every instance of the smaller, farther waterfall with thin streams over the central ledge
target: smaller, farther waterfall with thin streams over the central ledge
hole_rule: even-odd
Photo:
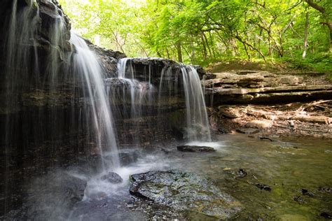
[[[123,91],[123,101],[130,97],[130,108],[132,117],[139,117],[144,112],[144,107],[149,107],[158,104],[158,116],[162,115],[161,107],[167,102],[162,98],[162,94],[168,90],[168,97],[172,93],[177,94],[179,85],[182,85],[181,90],[184,91],[183,97],[186,104],[186,132],[185,138],[187,141],[211,141],[211,134],[209,131],[209,120],[207,117],[207,110],[205,108],[205,98],[202,91],[200,78],[194,66],[186,66],[178,64],[177,69],[172,69],[171,66],[164,66],[160,72],[160,82],[157,85],[158,90],[154,90],[155,86],[151,84],[152,68],[148,64],[148,79],[139,81],[135,78],[136,73],[132,59],[120,59],[118,62],[118,78],[122,79],[128,85],[130,92]],[[179,83],[178,75],[181,74],[182,84]],[[147,74],[145,74],[147,76]],[[172,76],[174,82],[172,82]],[[146,87],[142,86],[146,85]],[[123,87],[125,90],[125,87]],[[113,92],[112,94],[116,94]],[[153,99],[151,99],[151,97]],[[170,101],[168,101],[170,102]],[[138,108],[137,108],[138,107]],[[132,127],[136,127],[132,125]],[[179,125],[180,127],[180,125]],[[136,128],[136,130],[138,130]]]

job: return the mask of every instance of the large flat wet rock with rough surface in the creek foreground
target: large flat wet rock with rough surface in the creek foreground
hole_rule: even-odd
[[[148,171],[134,174],[131,178],[130,194],[178,211],[190,210],[228,219],[242,210],[239,201],[195,173]]]

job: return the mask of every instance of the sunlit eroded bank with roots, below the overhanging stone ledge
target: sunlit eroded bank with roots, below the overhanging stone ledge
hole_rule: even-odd
[[[235,131],[256,138],[312,136],[332,138],[332,101],[286,105],[239,105],[208,108],[212,129],[218,134]],[[318,101],[319,103],[319,101]],[[323,103],[323,102],[322,102]],[[234,113],[232,115],[232,113]]]

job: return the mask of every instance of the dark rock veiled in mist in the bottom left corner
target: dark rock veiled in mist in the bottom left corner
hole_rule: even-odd
[[[71,209],[84,197],[87,180],[64,171],[32,181],[23,205],[5,220],[67,220]]]

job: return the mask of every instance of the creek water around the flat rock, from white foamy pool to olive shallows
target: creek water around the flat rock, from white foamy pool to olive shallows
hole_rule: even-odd
[[[331,189],[319,189],[332,187],[330,141],[289,138],[271,142],[240,134],[218,136],[217,140],[200,143],[216,148],[212,153],[179,152],[175,146],[165,147],[167,153],[144,152],[137,162],[116,171],[124,178],[124,183],[118,186],[90,180],[85,200],[76,206],[69,220],[162,218],[155,216],[158,211],[162,214],[161,207],[153,206],[151,215],[128,204],[129,176],[167,169],[193,171],[214,180],[244,206],[235,217],[237,220],[319,220],[324,219],[321,213],[331,214]],[[247,176],[238,176],[240,168]],[[258,183],[268,185],[271,191],[260,190],[256,187]],[[303,194],[302,189],[310,194]]]

